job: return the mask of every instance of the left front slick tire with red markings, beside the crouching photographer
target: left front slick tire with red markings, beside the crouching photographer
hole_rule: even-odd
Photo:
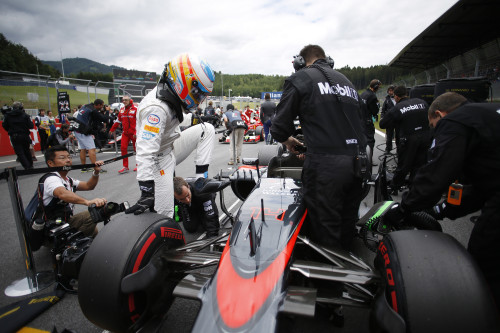
[[[111,332],[143,325],[155,312],[166,313],[177,281],[161,276],[154,293],[122,292],[122,279],[160,259],[164,249],[185,244],[179,224],[156,213],[114,218],[92,242],[79,275],[78,301],[84,315]],[[154,296],[151,296],[154,295]]]

